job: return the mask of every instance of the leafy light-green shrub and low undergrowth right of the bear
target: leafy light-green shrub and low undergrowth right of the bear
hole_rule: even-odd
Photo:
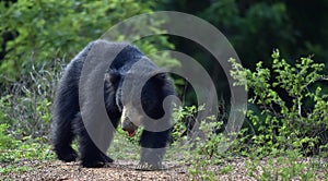
[[[230,61],[235,86],[245,86],[251,95],[247,111],[250,126],[232,133],[237,138],[230,141],[222,133],[213,132],[222,130],[222,122],[202,121],[199,129],[207,136],[200,134],[195,144],[189,145],[188,176],[216,180],[215,166],[224,164],[220,173],[225,174],[233,166],[224,160],[246,156],[245,169],[257,180],[323,178],[317,173],[327,169],[320,159],[327,157],[328,150],[328,96],[317,82],[327,81],[323,73],[325,65],[314,63],[311,58],[301,58],[291,65],[280,58],[278,50],[272,53],[272,70],[259,62],[253,72],[235,60]],[[180,108],[176,113],[175,118],[195,116],[197,109]],[[180,135],[186,128],[177,125],[174,134]],[[229,149],[222,153],[227,145]],[[304,155],[319,155],[319,158],[306,160]]]

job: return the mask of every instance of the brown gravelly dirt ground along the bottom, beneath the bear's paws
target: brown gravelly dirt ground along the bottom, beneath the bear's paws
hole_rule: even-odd
[[[302,158],[301,162],[313,161],[311,158]],[[268,160],[261,160],[260,166],[266,166]],[[247,174],[245,167],[246,159],[236,158],[225,164],[209,167],[206,169],[211,170],[215,174],[215,180],[256,180]],[[187,174],[187,164],[172,164],[164,162],[167,170],[161,171],[137,171],[134,170],[138,161],[133,160],[115,160],[114,164],[106,165],[104,168],[82,168],[79,162],[62,162],[59,160],[25,160],[11,164],[1,164],[0,168],[28,168],[25,171],[14,171],[8,173],[0,173],[0,180],[203,180],[201,173],[196,176]],[[321,161],[323,164],[323,161]],[[327,165],[327,160],[324,161]],[[281,166],[278,166],[281,167]],[[226,169],[229,168],[229,169]],[[328,170],[320,167],[320,169],[314,172],[315,180],[327,179]],[[271,168],[273,169],[273,168]],[[225,170],[225,171],[224,171]],[[210,171],[210,172],[211,172]],[[261,169],[254,170],[254,173],[260,176]],[[300,180],[296,177],[293,180]],[[207,179],[204,179],[207,180]]]

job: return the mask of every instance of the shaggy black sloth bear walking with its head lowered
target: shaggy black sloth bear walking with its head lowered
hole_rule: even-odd
[[[114,50],[113,52],[117,50],[113,59],[108,58],[107,60],[106,53],[103,57],[99,56],[102,51],[112,52],[112,50]],[[94,120],[86,123],[82,116],[83,111],[84,114],[89,116],[97,109],[90,106],[97,102],[84,104],[90,97],[81,98],[83,93],[81,93],[80,87],[86,59],[92,59],[94,56],[101,57],[102,61],[109,61],[105,72],[102,72],[101,81],[104,88],[92,87],[93,89],[103,89],[101,96],[104,100],[106,118],[110,120],[105,120],[105,122],[112,122],[114,128],[107,132],[115,132],[119,121],[121,121],[121,129],[127,131],[129,136],[133,136],[138,126],[142,125],[141,159],[137,169],[156,170],[163,168],[162,159],[171,130],[167,125],[171,125],[169,114],[172,113],[172,106],[165,108],[164,99],[166,101],[167,96],[174,95],[173,85],[166,73],[161,71],[137,47],[128,43],[107,40],[90,43],[65,69],[52,110],[51,141],[57,157],[63,161],[73,161],[80,157],[81,165],[89,168],[103,167],[106,162],[114,161],[105,154],[113,138],[110,136],[113,133],[109,136],[103,134],[101,130],[104,128],[96,123],[97,118],[92,118]],[[132,69],[134,67],[137,69]],[[145,74],[148,80],[144,80]],[[127,80],[130,80],[130,87],[124,88]],[[141,85],[142,87],[140,87]],[[140,92],[139,97],[132,92]],[[136,105],[134,100],[140,100],[140,104]],[[168,104],[172,105],[172,101]],[[96,130],[95,132],[99,130],[97,134],[103,136],[102,138],[109,140],[106,142],[105,149],[99,148],[95,143],[86,124],[94,125],[93,129]],[[165,129],[156,129],[161,126],[165,126]],[[78,138],[80,155],[71,147],[75,137]]]

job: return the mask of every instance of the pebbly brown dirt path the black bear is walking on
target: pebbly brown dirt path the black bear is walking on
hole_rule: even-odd
[[[176,166],[164,162],[167,170],[137,171],[138,161],[116,160],[105,168],[82,168],[79,162],[61,162],[59,160],[28,160],[11,164],[14,167],[28,166],[31,171],[0,173],[0,180],[199,180],[186,174],[188,166]],[[8,167],[3,165],[2,167]],[[218,169],[218,168],[216,168]],[[237,169],[236,169],[237,170]],[[241,169],[218,177],[220,180],[254,180],[246,177]],[[2,179],[1,179],[2,178]]]

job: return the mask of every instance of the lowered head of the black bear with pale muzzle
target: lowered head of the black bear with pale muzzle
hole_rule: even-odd
[[[124,83],[127,77],[130,79],[129,85]],[[112,85],[116,85],[116,105],[122,112],[121,129],[129,136],[134,136],[139,126],[161,119],[165,114],[163,100],[174,94],[166,73],[153,72],[142,80],[144,77],[140,74],[107,77]]]

